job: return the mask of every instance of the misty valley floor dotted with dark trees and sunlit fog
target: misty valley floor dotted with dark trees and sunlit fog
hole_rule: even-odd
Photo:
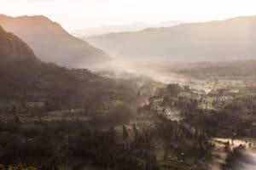
[[[109,89],[95,105],[75,98],[68,105],[2,99],[0,162],[63,170],[223,170],[233,166],[237,150],[255,146],[253,81],[115,81],[119,90]]]

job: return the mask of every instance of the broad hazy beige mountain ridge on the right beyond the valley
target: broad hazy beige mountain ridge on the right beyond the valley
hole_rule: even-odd
[[[256,16],[86,37],[113,57],[175,61],[256,58]]]

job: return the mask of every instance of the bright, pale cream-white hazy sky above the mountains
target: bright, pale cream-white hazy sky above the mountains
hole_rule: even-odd
[[[0,14],[44,14],[72,31],[138,21],[223,20],[256,15],[255,0],[0,0]]]

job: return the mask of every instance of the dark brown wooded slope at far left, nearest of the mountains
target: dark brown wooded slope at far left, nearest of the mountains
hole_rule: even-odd
[[[44,63],[26,42],[0,27],[0,99],[91,99],[102,87],[108,81],[86,69]]]

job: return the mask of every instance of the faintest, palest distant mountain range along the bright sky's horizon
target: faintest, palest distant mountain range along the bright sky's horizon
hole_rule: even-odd
[[[123,32],[123,31],[142,31],[146,28],[171,27],[171,26],[177,26],[181,23],[182,21],[170,20],[170,21],[160,22],[156,24],[137,22],[131,25],[123,25],[123,26],[122,25],[119,25],[119,26],[106,25],[106,26],[90,27],[90,28],[84,28],[81,30],[73,31],[73,35],[76,37],[88,37],[88,36],[96,36],[96,35]]]

